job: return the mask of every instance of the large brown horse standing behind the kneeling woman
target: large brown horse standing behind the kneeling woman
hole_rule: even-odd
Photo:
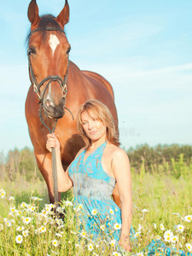
[[[31,32],[27,37],[27,55],[32,85],[26,97],[26,121],[38,168],[47,183],[49,201],[54,202],[51,154],[45,147],[48,130],[39,119],[39,106],[43,106],[42,118],[50,129],[58,119],[55,135],[61,143],[61,160],[65,168],[84,146],[76,128],[76,115],[81,104],[89,99],[103,102],[113,114],[117,131],[118,117],[111,84],[97,73],[81,71],[68,59],[70,44],[64,32],[69,20],[67,0],[57,17],[39,17],[36,0],[32,0],[28,19]],[[74,119],[64,108],[70,109]],[[119,205],[117,187],[113,190],[113,199]]]

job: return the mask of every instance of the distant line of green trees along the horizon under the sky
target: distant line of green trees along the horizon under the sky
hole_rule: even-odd
[[[148,144],[139,145],[136,148],[125,150],[131,162],[131,168],[140,172],[144,167],[145,172],[172,172],[181,175],[177,169],[179,165],[192,165],[192,146],[190,145],[161,145],[149,147]],[[180,164],[179,164],[180,163]],[[179,164],[179,165],[178,165]],[[175,169],[174,169],[175,168]],[[23,177],[26,181],[31,181],[34,173],[41,180],[44,180],[38,170],[33,150],[23,148],[9,150],[7,157],[0,155],[0,178],[15,180],[15,177]],[[180,174],[179,174],[180,173]]]

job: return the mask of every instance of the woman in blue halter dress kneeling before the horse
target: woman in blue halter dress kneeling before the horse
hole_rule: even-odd
[[[74,203],[83,207],[81,218],[92,239],[115,239],[120,247],[131,251],[131,167],[127,154],[119,148],[113,117],[102,102],[90,100],[79,108],[78,129],[85,147],[67,172],[61,164],[58,139],[54,134],[48,135],[46,147],[49,151],[55,148],[56,152],[58,190],[65,192],[74,187]],[[121,210],[111,198],[115,183]]]

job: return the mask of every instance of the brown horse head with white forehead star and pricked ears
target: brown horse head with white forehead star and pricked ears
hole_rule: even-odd
[[[38,15],[38,4],[32,0],[28,7],[31,32],[28,35],[28,61],[30,79],[44,113],[59,119],[64,115],[67,94],[67,70],[70,44],[64,32],[69,20],[66,0],[61,13]]]

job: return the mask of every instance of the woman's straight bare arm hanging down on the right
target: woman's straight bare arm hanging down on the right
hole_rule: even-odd
[[[131,251],[129,240],[132,216],[131,167],[127,154],[121,148],[116,149],[113,154],[113,173],[117,181],[121,201],[122,229],[119,245],[124,247],[126,251]]]

